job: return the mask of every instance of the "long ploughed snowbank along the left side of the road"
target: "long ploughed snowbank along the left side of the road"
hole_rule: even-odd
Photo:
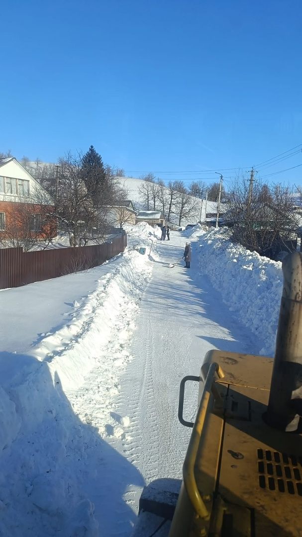
[[[127,461],[103,438],[126,438],[130,424],[128,416],[112,412],[113,398],[132,359],[130,339],[152,263],[126,249],[107,267],[105,274],[104,265],[91,269],[97,285],[83,300],[70,296],[63,325],[41,334],[28,353],[2,353],[0,535],[95,537],[102,513],[95,516],[88,498],[98,498],[104,511],[117,504],[119,491],[104,484],[112,468],[122,476]],[[63,277],[62,285],[68,278],[76,275]],[[141,485],[137,474],[133,470],[131,483]],[[108,531],[102,527],[100,534]]]

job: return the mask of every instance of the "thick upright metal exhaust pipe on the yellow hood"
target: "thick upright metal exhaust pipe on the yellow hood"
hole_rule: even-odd
[[[282,270],[276,352],[264,420],[277,429],[298,432],[302,421],[302,255],[288,255]]]

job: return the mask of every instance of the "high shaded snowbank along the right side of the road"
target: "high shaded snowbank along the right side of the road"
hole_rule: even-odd
[[[208,275],[238,321],[258,336],[263,344],[261,353],[273,355],[283,287],[282,264],[233,244],[228,240],[227,229],[200,233],[203,232],[200,230],[197,237],[200,271]]]

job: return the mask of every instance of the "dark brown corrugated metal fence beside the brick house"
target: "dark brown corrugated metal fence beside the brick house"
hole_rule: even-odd
[[[0,289],[91,269],[123,252],[126,246],[127,235],[120,235],[104,244],[78,248],[37,252],[23,252],[23,248],[0,249]]]

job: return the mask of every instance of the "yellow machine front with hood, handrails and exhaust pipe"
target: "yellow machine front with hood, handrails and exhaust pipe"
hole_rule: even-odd
[[[135,536],[302,536],[301,254],[282,268],[274,360],[213,350],[182,380],[178,418],[192,434],[181,489],[144,489]],[[199,382],[195,423],[183,418],[188,381]]]

